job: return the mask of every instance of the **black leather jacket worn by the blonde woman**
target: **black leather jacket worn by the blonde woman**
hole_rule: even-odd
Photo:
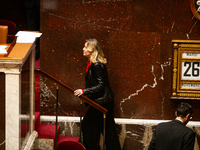
[[[85,76],[86,88],[84,95],[98,104],[107,104],[114,99],[110,88],[106,65],[96,62],[92,63]]]

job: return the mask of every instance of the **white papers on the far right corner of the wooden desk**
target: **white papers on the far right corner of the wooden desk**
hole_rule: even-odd
[[[42,33],[19,31],[15,36],[17,36],[16,43],[33,43],[36,37],[40,37]]]

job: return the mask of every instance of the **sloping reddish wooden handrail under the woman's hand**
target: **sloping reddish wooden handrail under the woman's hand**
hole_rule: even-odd
[[[63,85],[64,87],[66,87],[68,90],[70,90],[72,93],[74,93],[74,89],[69,87],[68,85],[66,85],[65,83],[59,81],[58,79],[54,78],[53,76],[49,75],[48,73],[46,73],[43,70],[40,69],[35,69],[35,72],[39,72],[42,73],[48,77],[50,77],[51,79],[55,80],[56,82],[58,82],[59,84]],[[93,106],[94,108],[98,109],[99,111],[101,111],[103,114],[106,114],[107,109],[105,109],[104,107],[102,107],[101,105],[97,104],[96,102],[94,102],[93,100],[87,98],[84,95],[81,95],[79,98],[81,98],[83,101],[85,101],[86,103],[90,104],[91,106]]]

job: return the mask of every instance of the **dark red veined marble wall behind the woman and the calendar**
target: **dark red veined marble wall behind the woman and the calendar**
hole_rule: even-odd
[[[189,0],[40,3],[42,70],[74,89],[83,88],[87,59],[82,49],[86,39],[97,38],[108,59],[115,117],[174,118],[182,100],[170,99],[171,41],[200,39],[200,22],[193,16]],[[52,86],[47,88],[51,91]],[[79,102],[73,94],[59,92],[59,97],[66,112],[77,114]],[[200,101],[185,101],[194,107],[194,120],[200,120]],[[47,104],[48,111],[41,107],[41,113],[54,114],[53,103]]]

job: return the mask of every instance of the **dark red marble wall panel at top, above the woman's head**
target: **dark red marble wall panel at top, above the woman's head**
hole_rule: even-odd
[[[45,7],[46,3],[48,0],[43,0],[41,3],[43,13],[49,12]],[[50,12],[45,16],[48,17],[45,22],[50,28],[58,30],[130,30],[132,26],[130,2],[70,3],[64,1],[57,4],[56,8],[50,9]]]

